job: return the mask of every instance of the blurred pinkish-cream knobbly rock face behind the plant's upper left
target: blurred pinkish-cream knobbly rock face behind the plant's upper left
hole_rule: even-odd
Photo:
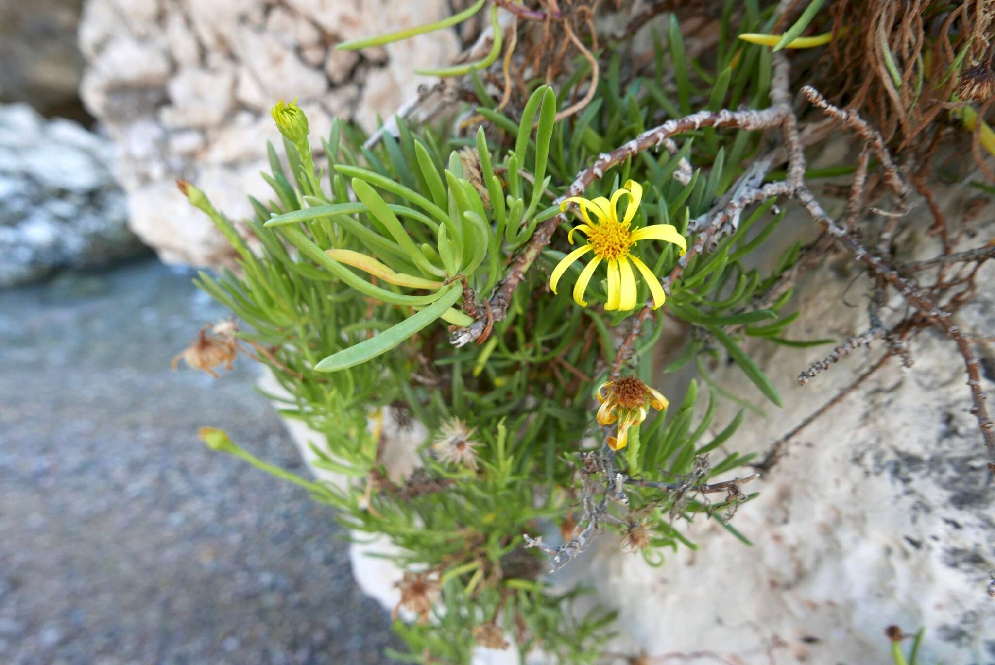
[[[427,81],[412,70],[457,55],[457,34],[358,54],[331,47],[450,14],[447,0],[87,0],[81,94],[120,148],[116,176],[135,233],[169,263],[230,263],[231,248],[173,179],[195,182],[234,219],[248,216],[247,195],[273,197],[258,175],[266,139],[279,139],[270,108],[298,98],[316,146],[334,114],[372,129],[377,113],[389,117]]]

